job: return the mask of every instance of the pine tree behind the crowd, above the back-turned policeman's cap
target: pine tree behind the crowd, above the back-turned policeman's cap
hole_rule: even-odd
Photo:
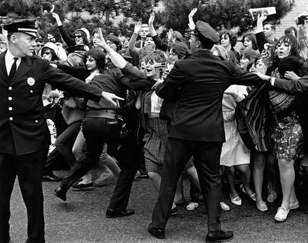
[[[239,35],[253,29],[256,22],[252,21],[249,8],[275,6],[276,14],[269,15],[268,21],[280,23],[294,6],[294,0],[163,0],[165,8],[159,14],[166,16],[166,28],[187,31],[188,14],[197,7],[199,11],[194,20],[208,22],[215,30],[239,28]]]

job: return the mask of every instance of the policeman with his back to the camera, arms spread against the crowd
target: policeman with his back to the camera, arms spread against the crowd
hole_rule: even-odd
[[[256,74],[211,55],[210,49],[218,41],[217,33],[207,23],[198,21],[189,40],[192,54],[175,62],[164,82],[155,87],[160,98],[177,100],[160,192],[148,226],[149,233],[159,239],[165,238],[176,182],[191,156],[207,211],[206,242],[225,242],[234,237],[233,232],[222,231],[220,225],[219,162],[225,142],[222,98],[232,84],[256,85],[261,80]]]

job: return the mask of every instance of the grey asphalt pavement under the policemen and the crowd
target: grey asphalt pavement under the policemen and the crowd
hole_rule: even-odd
[[[67,171],[55,172],[65,175]],[[93,172],[94,179],[99,172]],[[186,207],[178,208],[178,215],[171,217],[166,226],[166,239],[158,240],[147,232],[151,221],[158,193],[149,179],[137,179],[133,183],[128,208],[136,213],[129,217],[107,219],[105,211],[112,195],[116,178],[106,181],[103,187],[95,187],[93,191],[68,191],[67,202],[56,198],[52,191],[59,182],[43,182],[45,238],[47,243],[203,243],[205,242],[206,214],[205,206],[194,211]],[[308,243],[308,186],[297,188],[300,192],[300,208],[290,211],[283,223],[277,223],[274,215],[281,199],[274,204],[268,203],[269,210],[260,212],[255,203],[246,195],[242,205],[230,202],[224,185],[224,201],[230,211],[222,211],[223,230],[234,231],[232,243]],[[184,179],[184,195],[189,202],[189,180]],[[266,199],[266,195],[265,195]],[[18,181],[15,182],[11,198],[10,219],[11,243],[24,243],[27,239],[27,213],[22,200]]]

